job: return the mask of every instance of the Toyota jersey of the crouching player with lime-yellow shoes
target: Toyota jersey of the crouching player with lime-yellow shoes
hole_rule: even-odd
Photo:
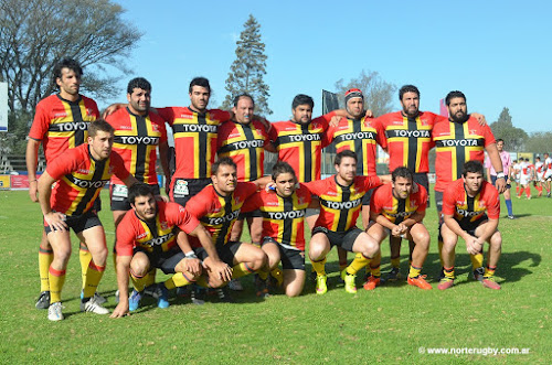
[[[351,185],[343,186],[338,184],[336,175],[332,175],[305,185],[320,197],[320,215],[316,226],[346,232],[357,225],[364,194],[381,185],[381,180],[378,176],[355,176]]]

